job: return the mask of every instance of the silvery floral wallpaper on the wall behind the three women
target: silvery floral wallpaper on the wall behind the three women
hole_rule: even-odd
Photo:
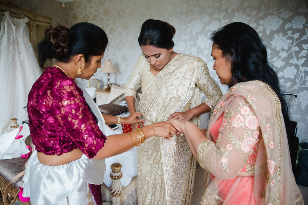
[[[201,57],[224,93],[227,88],[219,84],[212,69],[209,36],[228,23],[245,22],[257,30],[265,42],[269,60],[285,92],[298,95],[295,103],[294,97],[290,98],[290,112],[294,104],[291,117],[298,122],[300,141],[308,138],[306,0],[76,0],[48,14],[67,27],[77,22],[91,22],[106,31],[109,44],[104,59],[113,62],[117,73],[110,76],[111,83],[116,84],[126,83],[141,54],[137,38],[142,23],[149,18],[166,21],[176,28],[173,50]],[[101,84],[107,82],[106,73],[97,72],[93,78],[99,79]]]

